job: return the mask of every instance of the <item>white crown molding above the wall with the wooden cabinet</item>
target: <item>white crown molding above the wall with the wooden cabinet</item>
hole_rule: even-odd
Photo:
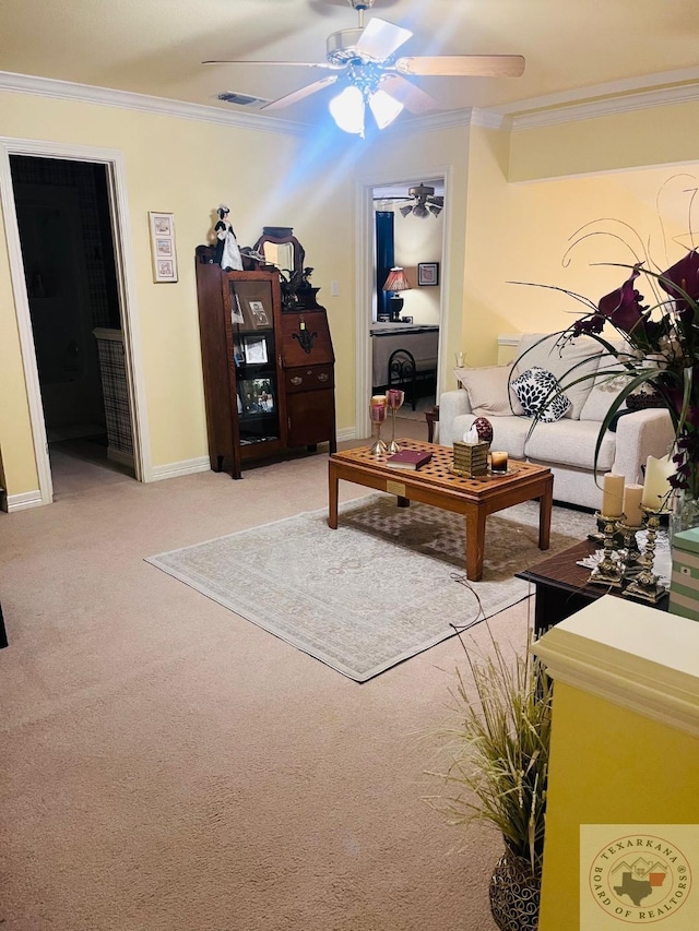
[[[237,111],[227,112],[220,107],[209,107],[203,104],[188,104],[181,100],[169,100],[165,97],[150,97],[146,94],[95,87],[91,84],[74,84],[70,81],[35,77],[31,74],[14,74],[10,71],[0,71],[0,91],[33,94],[37,97],[54,97],[60,100],[75,100],[82,104],[102,104],[107,107],[120,107],[121,109],[139,110],[144,114],[253,129],[258,132],[283,132],[293,135],[304,135],[308,132],[308,127],[303,123],[280,120],[264,114],[252,116]]]

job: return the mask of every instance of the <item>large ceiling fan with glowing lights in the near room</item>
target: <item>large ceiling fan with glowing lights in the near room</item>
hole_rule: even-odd
[[[438,102],[415,86],[407,76],[429,77],[519,77],[524,71],[521,55],[436,55],[395,58],[398,49],[413,35],[378,16],[367,25],[365,10],[375,0],[347,0],[358,13],[358,26],[340,29],[327,39],[324,62],[208,60],[203,64],[264,64],[318,68],[332,72],[311,84],[292,91],[260,109],[279,110],[340,81],[341,94],[330,102],[330,112],[346,132],[364,135],[365,105],[368,104],[379,129],[389,126],[403,108],[412,114],[439,109]],[[226,95],[222,95],[225,99]]]

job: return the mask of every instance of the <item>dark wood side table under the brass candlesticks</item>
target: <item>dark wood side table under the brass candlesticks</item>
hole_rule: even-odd
[[[600,549],[597,544],[591,540],[582,540],[582,542],[537,562],[531,569],[516,573],[518,578],[524,578],[534,585],[535,638],[574,614],[576,611],[584,608],[585,605],[601,598],[602,595],[621,597],[619,592],[605,588],[604,585],[590,585],[588,582],[590,570],[583,565],[578,565],[578,560],[592,556],[597,549]],[[668,602],[670,595],[667,594],[653,607],[666,611]]]

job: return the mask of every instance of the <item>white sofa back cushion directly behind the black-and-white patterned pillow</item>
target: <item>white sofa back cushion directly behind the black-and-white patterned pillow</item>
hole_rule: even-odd
[[[557,333],[525,333],[520,339],[514,365],[518,372],[534,366],[553,372],[570,398],[570,408],[566,416],[578,420],[592,389],[592,374],[597,370],[602,347],[591,336],[579,336],[562,346],[558,341]],[[571,371],[573,367],[574,370]],[[580,378],[584,381],[570,384]]]

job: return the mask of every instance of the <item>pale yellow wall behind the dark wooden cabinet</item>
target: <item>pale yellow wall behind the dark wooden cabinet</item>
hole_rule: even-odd
[[[206,241],[222,200],[230,206],[240,244],[254,242],[265,225],[294,227],[316,268],[312,282],[328,306],[335,345],[353,346],[354,254],[341,219],[352,215],[353,192],[342,172],[325,172],[319,181],[319,162],[327,164],[328,153],[309,153],[288,135],[9,93],[0,94],[0,123],[7,138],[123,153],[154,466],[206,455],[193,254]],[[150,210],[175,214],[177,284],[153,284]],[[341,283],[337,298],[330,298],[331,279]],[[36,489],[37,478],[5,249],[0,330],[0,396],[13,398],[0,411],[0,450],[12,496]],[[342,429],[354,423],[354,357],[352,349],[336,355]]]

